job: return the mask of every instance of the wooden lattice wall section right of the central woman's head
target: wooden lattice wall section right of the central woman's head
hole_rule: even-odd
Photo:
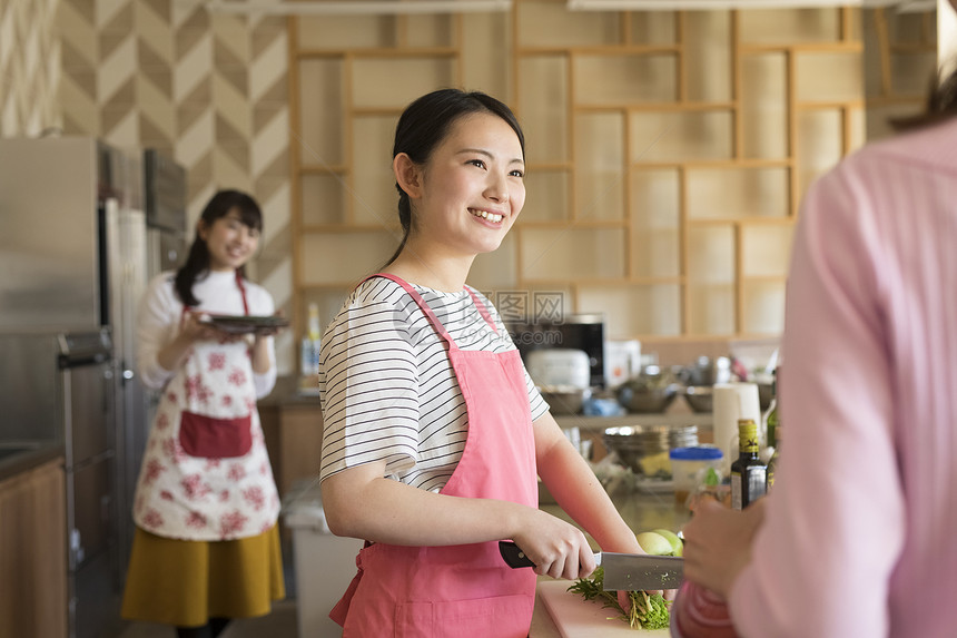
[[[515,30],[529,181],[570,204],[516,226],[520,282],[613,338],[779,334],[800,196],[862,141],[859,12],[520,0]]]

